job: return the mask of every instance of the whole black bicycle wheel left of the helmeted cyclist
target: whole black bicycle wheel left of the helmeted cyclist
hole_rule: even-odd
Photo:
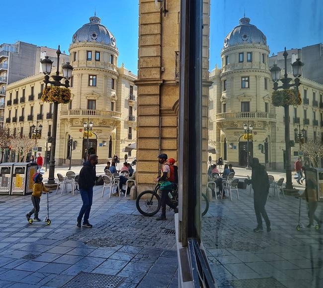
[[[156,192],[147,190],[138,195],[136,206],[144,216],[154,216],[161,209],[161,198]]]

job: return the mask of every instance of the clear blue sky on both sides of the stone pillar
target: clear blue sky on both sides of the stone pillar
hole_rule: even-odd
[[[68,51],[72,36],[96,14],[114,35],[119,49],[118,65],[137,74],[138,0],[63,1],[30,0],[1,3],[0,42],[21,40],[38,46]],[[50,6],[51,5],[51,6]],[[225,36],[246,17],[267,37],[271,53],[323,42],[322,0],[211,0],[210,69],[220,64]],[[46,16],[44,13],[48,13]],[[57,23],[57,24],[55,24]],[[321,29],[320,29],[321,27]]]

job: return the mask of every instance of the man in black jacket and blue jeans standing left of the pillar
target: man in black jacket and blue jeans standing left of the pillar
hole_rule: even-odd
[[[95,185],[96,172],[95,165],[97,164],[97,156],[91,154],[88,161],[83,163],[83,167],[80,172],[79,188],[82,197],[83,205],[79,217],[76,222],[76,226],[81,228],[81,221],[83,219],[83,227],[91,228],[92,225],[88,222],[88,217],[91,211],[92,198],[93,198],[93,186]]]

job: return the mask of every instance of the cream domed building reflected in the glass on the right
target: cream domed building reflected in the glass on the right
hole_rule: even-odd
[[[211,154],[213,159],[223,156],[233,165],[247,165],[247,140],[243,139],[243,123],[246,123],[253,125],[249,154],[273,169],[283,168],[283,108],[271,104],[273,90],[268,55],[265,35],[249,23],[249,18],[240,19],[240,24],[225,38],[222,67],[210,73],[213,85],[210,88],[209,145],[215,146],[218,153]],[[299,90],[302,105],[290,106],[291,122],[295,124],[290,126],[291,139],[300,123],[301,129],[306,130],[306,138],[321,140],[323,85],[301,78]],[[298,151],[296,144],[292,155],[298,155]]]

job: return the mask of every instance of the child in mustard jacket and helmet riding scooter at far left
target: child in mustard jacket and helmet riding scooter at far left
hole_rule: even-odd
[[[43,184],[43,175],[40,173],[35,173],[32,177],[34,181],[34,185],[32,187],[32,194],[31,194],[31,202],[33,204],[32,210],[26,214],[27,220],[31,217],[32,214],[34,214],[34,221],[39,222],[41,221],[38,218],[38,213],[39,213],[39,203],[40,203],[40,197],[43,194],[48,192],[48,189],[44,186]]]

